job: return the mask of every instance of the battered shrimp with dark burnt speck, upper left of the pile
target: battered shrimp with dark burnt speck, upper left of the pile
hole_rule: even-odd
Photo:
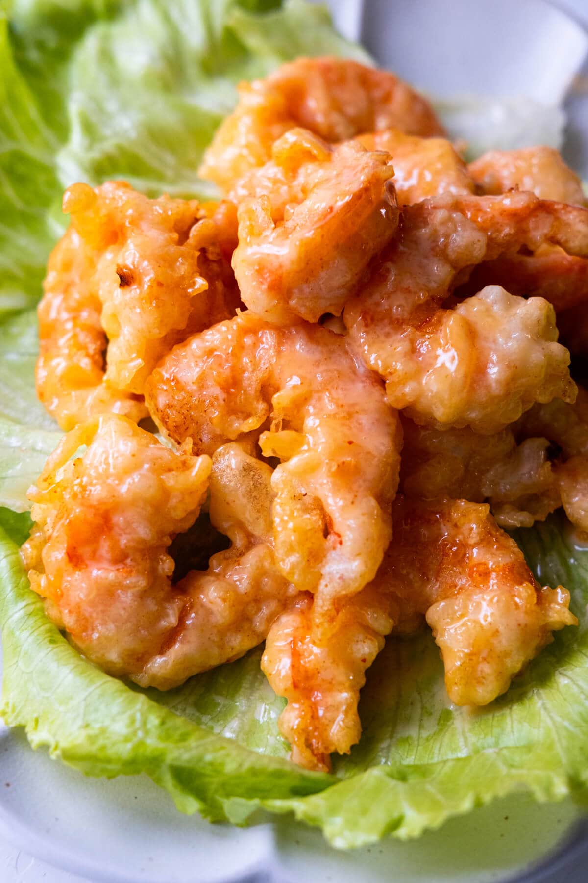
[[[109,182],[71,186],[63,210],[71,227],[39,306],[38,396],[63,429],[103,411],[141,419],[159,358],[239,304],[234,208],[149,200]]]

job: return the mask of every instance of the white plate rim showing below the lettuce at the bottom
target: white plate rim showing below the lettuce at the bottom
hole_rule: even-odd
[[[419,841],[340,853],[290,819],[238,829],[182,816],[145,776],[86,779],[31,751],[18,731],[0,732],[0,757],[0,836],[93,883],[491,883],[584,834],[571,802],[540,806],[515,796]],[[27,883],[41,879],[26,874]]]

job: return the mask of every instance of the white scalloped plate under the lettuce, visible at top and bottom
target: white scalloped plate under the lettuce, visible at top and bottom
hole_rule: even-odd
[[[585,0],[567,5],[588,17]],[[516,87],[554,99],[586,45],[581,29],[542,0],[366,0],[363,16],[358,0],[333,7],[349,35],[363,26],[383,64],[436,94],[455,92],[457,82],[464,92],[482,84],[488,93]],[[588,177],[587,103],[572,105],[571,147]],[[0,725],[0,883],[583,883],[586,863],[586,823],[569,801],[539,806],[513,796],[416,842],[337,853],[290,819],[238,830],[186,818],[145,776],[85,779]]]

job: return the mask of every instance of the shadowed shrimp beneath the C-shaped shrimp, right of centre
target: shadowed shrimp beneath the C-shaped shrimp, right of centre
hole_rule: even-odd
[[[531,527],[562,505],[547,438],[518,443],[511,426],[491,435],[406,418],[402,426],[400,488],[407,497],[488,501],[496,523],[509,529]]]

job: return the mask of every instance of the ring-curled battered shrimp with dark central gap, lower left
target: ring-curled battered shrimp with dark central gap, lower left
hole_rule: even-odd
[[[81,457],[71,460],[78,447]],[[114,675],[167,689],[257,645],[294,592],[273,559],[271,469],[227,445],[213,458],[165,448],[104,415],[66,435],[33,488],[22,549],[48,615]],[[198,515],[232,546],[173,584],[168,547]]]

